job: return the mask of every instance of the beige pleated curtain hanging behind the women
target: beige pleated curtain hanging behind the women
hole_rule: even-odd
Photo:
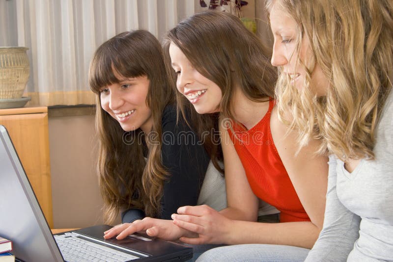
[[[161,38],[194,0],[0,0],[1,46],[28,47],[30,105],[94,104],[87,82],[96,48],[127,30]]]

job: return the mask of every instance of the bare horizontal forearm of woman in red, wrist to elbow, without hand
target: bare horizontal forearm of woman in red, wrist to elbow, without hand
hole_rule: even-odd
[[[312,248],[320,229],[311,222],[257,223],[233,220],[225,244],[278,244]]]

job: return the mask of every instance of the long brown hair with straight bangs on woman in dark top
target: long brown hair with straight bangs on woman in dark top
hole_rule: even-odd
[[[146,76],[150,81],[146,105],[152,112],[152,131],[156,135],[147,135],[147,145],[140,129],[123,131],[101,107],[100,89],[119,82],[115,73],[124,78]],[[166,105],[174,102],[160,43],[145,30],[114,36],[95,52],[89,69],[89,85],[97,94],[98,177],[106,222],[112,223],[120,210],[129,208],[156,216],[167,178],[161,157],[162,113]]]

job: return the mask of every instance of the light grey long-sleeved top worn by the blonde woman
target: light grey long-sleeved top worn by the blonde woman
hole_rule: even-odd
[[[323,230],[307,262],[393,261],[393,93],[376,131],[375,159],[352,173],[329,157]]]

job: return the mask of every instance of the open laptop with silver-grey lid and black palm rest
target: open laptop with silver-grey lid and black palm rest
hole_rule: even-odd
[[[112,228],[109,225],[52,235],[8,132],[1,125],[0,192],[0,236],[12,241],[12,253],[21,261],[186,261],[193,256],[190,247],[141,234],[122,240],[104,239],[104,231]]]

